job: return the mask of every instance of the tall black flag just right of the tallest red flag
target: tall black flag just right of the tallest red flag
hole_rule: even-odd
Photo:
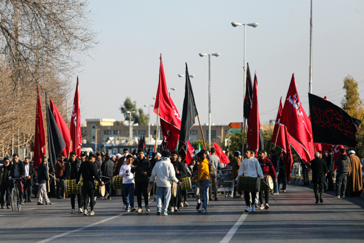
[[[182,110],[181,128],[179,132],[179,144],[178,151],[182,157],[181,161],[186,158],[187,142],[190,139],[190,129],[195,124],[195,117],[198,115],[195,97],[193,95],[192,86],[190,82],[190,76],[188,73],[186,63],[186,85],[185,85],[185,99]]]

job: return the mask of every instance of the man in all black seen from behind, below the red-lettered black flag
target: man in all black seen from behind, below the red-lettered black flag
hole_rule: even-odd
[[[313,192],[315,194],[315,204],[319,203],[319,193],[320,193],[320,203],[324,203],[324,181],[325,176],[328,171],[326,161],[320,158],[320,152],[315,152],[315,158],[311,160],[312,169],[312,183]]]

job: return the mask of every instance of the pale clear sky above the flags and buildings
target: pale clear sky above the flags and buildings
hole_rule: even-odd
[[[166,84],[182,114],[187,62],[202,124],[208,123],[208,57],[211,56],[211,123],[243,121],[244,27],[246,61],[258,78],[261,124],[275,120],[280,98],[295,74],[308,114],[310,1],[91,1],[95,53],[79,74],[81,120],[124,120],[126,97],[148,114],[158,87],[162,53]],[[312,93],[340,105],[351,75],[364,96],[364,2],[313,1]],[[74,84],[76,77],[74,77]],[[73,94],[73,91],[71,92]],[[73,95],[71,95],[73,96]],[[73,101],[73,97],[71,97]],[[72,102],[71,102],[72,103]],[[151,123],[157,116],[151,109]]]

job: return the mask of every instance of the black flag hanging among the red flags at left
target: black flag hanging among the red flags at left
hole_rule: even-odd
[[[47,102],[47,130],[48,130],[48,157],[50,163],[50,172],[55,173],[55,166],[58,156],[62,153],[66,147],[66,143],[63,136],[57,126],[56,119],[54,118],[52,111]],[[66,155],[66,154],[65,154]]]

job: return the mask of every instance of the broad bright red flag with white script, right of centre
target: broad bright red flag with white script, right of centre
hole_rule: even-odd
[[[314,153],[311,122],[301,106],[294,74],[283,107],[281,124],[287,128],[291,145],[310,168]]]

